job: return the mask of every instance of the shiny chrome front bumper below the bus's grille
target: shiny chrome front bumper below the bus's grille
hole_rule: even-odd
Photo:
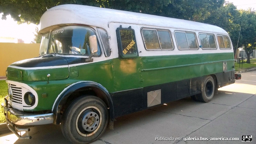
[[[28,114],[13,108],[8,108],[1,104],[1,112],[5,115],[6,119],[15,125],[23,126],[35,126],[53,124],[54,116],[53,113],[49,114]]]

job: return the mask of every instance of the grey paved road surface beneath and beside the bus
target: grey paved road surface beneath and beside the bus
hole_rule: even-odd
[[[106,130],[93,144],[256,144],[256,71],[242,73],[242,80],[219,89],[209,103],[190,98],[116,118],[114,130]],[[65,144],[60,127],[31,127],[31,140],[14,134],[0,135],[3,144]],[[242,142],[252,135],[252,142]],[[155,141],[156,137],[174,138]],[[239,138],[239,141],[184,141],[184,138]],[[181,138],[180,141],[176,138]]]

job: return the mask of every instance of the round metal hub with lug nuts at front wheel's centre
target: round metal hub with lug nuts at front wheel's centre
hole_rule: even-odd
[[[94,131],[99,126],[99,115],[95,112],[88,112],[84,115],[82,126],[85,131]]]

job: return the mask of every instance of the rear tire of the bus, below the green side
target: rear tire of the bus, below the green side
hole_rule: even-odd
[[[201,102],[210,102],[214,96],[214,90],[214,79],[212,76],[207,76],[202,83],[202,93],[197,94],[196,98]]]

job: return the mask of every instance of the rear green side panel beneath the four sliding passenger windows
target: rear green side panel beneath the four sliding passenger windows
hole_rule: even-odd
[[[220,73],[223,61],[233,69],[233,53],[142,57],[142,87]]]

